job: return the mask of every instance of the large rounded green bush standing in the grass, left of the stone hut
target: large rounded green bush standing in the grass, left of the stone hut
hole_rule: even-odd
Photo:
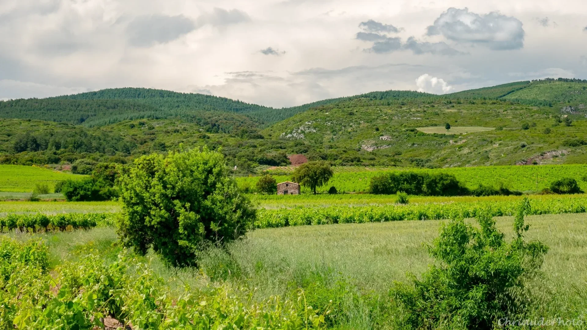
[[[151,154],[134,161],[120,178],[124,245],[149,248],[171,265],[195,265],[209,242],[241,237],[255,209],[214,151]]]

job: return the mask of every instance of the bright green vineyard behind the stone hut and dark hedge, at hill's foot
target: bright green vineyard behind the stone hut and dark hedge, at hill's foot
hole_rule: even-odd
[[[504,187],[518,191],[540,191],[549,187],[552,181],[563,177],[571,177],[578,181],[583,190],[587,189],[587,165],[542,165],[542,166],[483,166],[483,167],[454,167],[446,169],[385,169],[369,171],[341,171],[335,168],[335,175],[326,186],[318,188],[319,193],[326,193],[330,186],[335,186],[340,192],[365,193],[369,191],[372,177],[387,171],[410,170],[417,173],[447,173],[454,174],[457,180],[468,188],[476,188],[480,184],[491,187]],[[254,190],[258,177],[239,177],[237,181],[241,188]],[[275,176],[278,182],[290,180],[290,176]],[[311,193],[309,188],[302,187],[302,194]]]

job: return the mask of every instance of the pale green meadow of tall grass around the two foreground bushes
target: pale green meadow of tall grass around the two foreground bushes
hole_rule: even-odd
[[[548,245],[541,274],[527,284],[535,297],[530,316],[576,318],[587,311],[587,214],[527,217],[529,240]],[[210,294],[212,287],[234,288],[234,299],[261,302],[289,297],[302,288],[315,308],[336,304],[332,329],[393,329],[387,313],[387,292],[393,281],[421,274],[433,262],[426,244],[445,221],[340,224],[270,228],[251,231],[225,248],[206,250],[199,268],[167,268],[149,252],[145,262],[174,289],[189,285],[194,294]],[[497,227],[511,239],[512,217],[497,218]],[[31,235],[6,234],[19,240]],[[88,251],[106,263],[122,251],[113,228],[36,234],[49,247],[50,265],[83,259]],[[237,289],[238,288],[238,289]],[[197,293],[199,292],[199,293]],[[332,307],[332,305],[331,305]],[[565,328],[562,327],[554,327]],[[571,327],[572,328],[572,327]]]

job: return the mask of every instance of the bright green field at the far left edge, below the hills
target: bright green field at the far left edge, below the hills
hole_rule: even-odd
[[[52,192],[57,181],[82,177],[38,166],[0,165],[0,191],[30,193],[36,184],[47,184]]]

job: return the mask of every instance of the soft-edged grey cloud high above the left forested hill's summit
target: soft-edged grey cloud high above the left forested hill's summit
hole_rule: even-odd
[[[174,41],[194,29],[194,22],[183,15],[150,15],[133,19],[126,31],[131,45],[148,47],[156,43]]]

